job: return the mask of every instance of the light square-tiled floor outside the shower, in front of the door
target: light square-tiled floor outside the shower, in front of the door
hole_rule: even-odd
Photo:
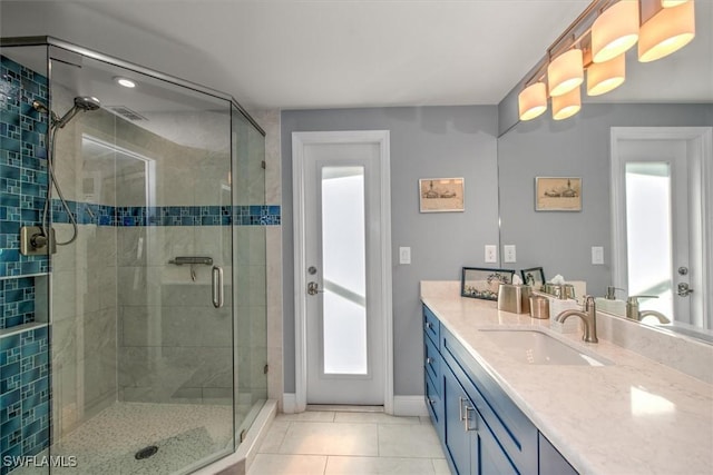
[[[280,414],[247,475],[450,474],[428,417]]]

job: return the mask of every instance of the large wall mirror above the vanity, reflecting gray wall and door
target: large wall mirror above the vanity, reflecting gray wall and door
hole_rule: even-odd
[[[713,343],[713,311],[703,301],[713,295],[707,270],[713,224],[706,208],[713,202],[706,195],[713,168],[713,3],[695,6],[696,38],[676,55],[651,65],[627,58],[626,82],[613,93],[584,98],[580,112],[569,119],[555,121],[545,113],[499,137],[500,245],[517,246],[519,268],[543,266],[548,275],[586,281],[587,293],[599,297],[598,309],[625,317],[629,296],[656,295],[636,299],[639,316],[658,311],[673,320],[664,326]],[[516,110],[517,102],[509,107]],[[638,129],[635,137],[644,130],[645,137],[617,142],[617,128]],[[656,137],[663,128],[703,131],[663,142],[667,137]],[[629,155],[615,155],[615,144]],[[694,150],[704,151],[696,157]],[[535,179],[543,176],[582,177],[582,210],[537,211]],[[646,192],[634,181],[663,186],[671,199],[656,191],[656,210],[651,197],[627,205],[627,196],[631,201],[632,194]],[[653,248],[656,243],[665,249]],[[593,264],[599,247],[604,263]],[[612,289],[614,298],[607,299],[608,287],[622,290]],[[662,326],[655,316],[642,321]]]

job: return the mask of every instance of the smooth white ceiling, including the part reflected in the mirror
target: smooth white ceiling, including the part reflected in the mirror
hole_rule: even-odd
[[[588,3],[2,0],[0,7],[8,17],[2,36],[52,34],[228,92],[251,108],[315,109],[496,105]],[[683,100],[713,100],[712,4],[696,1],[696,39],[675,62],[656,66],[665,75],[674,65],[678,79],[695,86],[674,88],[667,79],[662,91],[639,82],[658,72],[633,70],[637,82],[617,100],[676,100],[682,91]]]

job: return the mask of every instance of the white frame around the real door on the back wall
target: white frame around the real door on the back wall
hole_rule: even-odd
[[[307,331],[306,331],[306,288],[305,256],[305,147],[318,144],[377,144],[379,146],[379,171],[381,175],[381,239],[382,253],[381,294],[383,296],[379,315],[379,326],[383,331],[383,353],[385,359],[383,407],[387,414],[393,414],[393,317],[391,294],[391,166],[389,130],[354,130],[325,132],[292,132],[292,196],[294,230],[294,309],[295,309],[295,410],[306,409],[307,392]]]

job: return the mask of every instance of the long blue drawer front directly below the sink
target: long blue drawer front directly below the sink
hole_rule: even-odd
[[[443,365],[462,380],[468,396],[518,472],[528,473],[527,467],[537,467],[535,425],[446,328],[441,329],[441,352]]]

